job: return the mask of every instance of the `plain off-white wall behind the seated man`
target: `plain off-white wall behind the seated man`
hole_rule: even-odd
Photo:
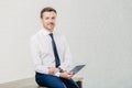
[[[42,26],[40,11],[58,12],[84,88],[131,88],[131,0],[0,0],[0,82],[32,77],[29,40]]]

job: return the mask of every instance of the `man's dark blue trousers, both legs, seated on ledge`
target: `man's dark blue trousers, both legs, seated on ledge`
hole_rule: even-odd
[[[38,86],[48,88],[78,88],[73,79],[56,77],[53,75],[36,73],[35,80]]]

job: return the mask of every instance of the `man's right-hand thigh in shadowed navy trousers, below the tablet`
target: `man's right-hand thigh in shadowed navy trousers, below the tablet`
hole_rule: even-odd
[[[79,88],[73,79],[61,78],[67,88]]]

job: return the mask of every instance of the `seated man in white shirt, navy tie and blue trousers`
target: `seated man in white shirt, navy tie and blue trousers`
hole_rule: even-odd
[[[31,52],[38,86],[48,88],[78,88],[72,79],[73,73],[66,72],[72,56],[64,36],[55,31],[57,12],[46,7],[41,11],[43,29],[31,38]]]

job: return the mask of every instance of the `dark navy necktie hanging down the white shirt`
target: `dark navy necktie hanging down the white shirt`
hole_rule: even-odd
[[[59,56],[57,53],[57,47],[56,47],[56,44],[53,37],[53,33],[51,33],[50,36],[52,37],[52,46],[53,46],[54,56],[55,56],[55,66],[58,67],[61,65],[61,62],[59,62]]]

